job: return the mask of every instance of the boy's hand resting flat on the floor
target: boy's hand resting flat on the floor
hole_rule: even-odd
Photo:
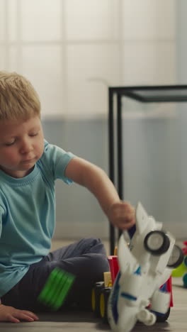
[[[19,323],[20,321],[38,321],[38,316],[31,311],[18,310],[13,306],[4,306],[0,304],[0,321],[10,321]]]

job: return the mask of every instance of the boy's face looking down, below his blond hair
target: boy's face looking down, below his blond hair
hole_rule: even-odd
[[[0,169],[11,177],[25,177],[42,156],[44,138],[40,118],[0,121]]]

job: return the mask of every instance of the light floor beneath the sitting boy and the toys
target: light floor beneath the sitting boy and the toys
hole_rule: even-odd
[[[69,243],[69,241],[67,241]],[[64,244],[64,243],[63,243]],[[108,251],[108,243],[106,250]],[[62,243],[55,241],[52,249],[59,248]],[[145,326],[137,323],[132,332],[186,332],[187,323],[187,289],[182,286],[180,278],[173,279],[174,308],[171,309],[169,320],[164,323],[156,323],[154,326]],[[22,332],[94,332],[110,331],[108,325],[96,319],[90,312],[69,312],[65,314],[39,314],[40,320],[33,323],[0,323],[1,331],[22,331]]]

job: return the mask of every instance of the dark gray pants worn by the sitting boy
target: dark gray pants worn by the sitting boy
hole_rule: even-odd
[[[91,306],[91,289],[103,280],[103,272],[109,270],[106,250],[98,238],[84,238],[49,253],[40,262],[30,265],[26,275],[15,287],[1,297],[2,304],[16,309],[49,311],[38,302],[38,295],[55,267],[71,272],[75,281],[60,310],[76,306],[79,309]]]

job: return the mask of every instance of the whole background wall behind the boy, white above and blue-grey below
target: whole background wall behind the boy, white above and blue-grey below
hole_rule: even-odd
[[[108,172],[108,85],[178,82],[179,3],[0,0],[0,66],[35,85],[47,140]],[[125,199],[141,200],[181,236],[181,109],[126,100],[123,108]],[[96,199],[57,182],[55,236],[91,234],[108,236]]]

